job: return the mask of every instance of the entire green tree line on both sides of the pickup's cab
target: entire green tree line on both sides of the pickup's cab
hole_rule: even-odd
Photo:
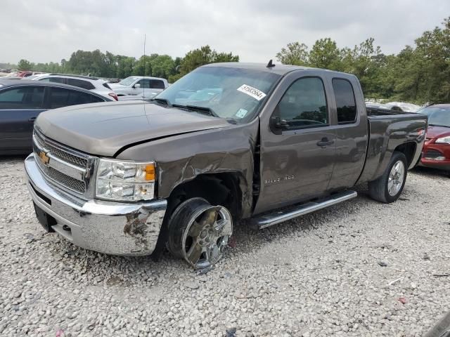
[[[397,55],[382,53],[373,38],[354,48],[339,48],[330,38],[317,40],[309,48],[295,41],[276,54],[279,62],[319,67],[355,74],[367,98],[388,98],[413,103],[450,101],[450,18],[440,27],[424,32],[413,46]],[[131,75],[164,77],[176,81],[200,65],[212,62],[238,62],[233,53],[219,53],[210,46],[189,51],[183,58],[150,54],[136,59],[107,51],[76,51],[60,63],[31,63],[20,60],[19,70],[91,74],[124,78]]]

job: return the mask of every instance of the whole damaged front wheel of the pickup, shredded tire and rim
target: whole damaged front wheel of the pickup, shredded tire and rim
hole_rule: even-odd
[[[180,204],[169,221],[168,249],[195,269],[211,267],[223,256],[233,232],[231,213],[203,198]]]

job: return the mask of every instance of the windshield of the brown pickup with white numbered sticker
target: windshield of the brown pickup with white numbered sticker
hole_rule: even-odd
[[[233,67],[200,67],[176,81],[156,99],[169,105],[210,109],[217,117],[245,122],[252,119],[281,76]]]

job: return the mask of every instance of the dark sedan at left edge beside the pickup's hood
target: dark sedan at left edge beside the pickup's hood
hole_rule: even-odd
[[[107,101],[113,100],[65,84],[0,79],[0,154],[30,153],[34,120],[45,110]]]

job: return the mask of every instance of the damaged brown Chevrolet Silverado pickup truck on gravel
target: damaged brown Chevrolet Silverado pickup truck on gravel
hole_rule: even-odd
[[[420,157],[421,114],[367,109],[352,74],[199,67],[153,102],[40,114],[28,187],[43,227],[108,254],[217,263],[233,226],[259,228],[356,197],[397,200]]]

